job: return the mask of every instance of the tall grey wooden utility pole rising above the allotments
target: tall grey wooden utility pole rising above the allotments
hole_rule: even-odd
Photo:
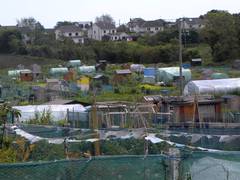
[[[180,96],[183,95],[182,75],[182,19],[179,20],[179,72],[180,72]]]

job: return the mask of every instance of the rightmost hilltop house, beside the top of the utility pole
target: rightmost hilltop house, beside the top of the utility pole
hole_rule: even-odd
[[[182,28],[185,30],[199,30],[205,26],[203,18],[181,18],[176,23],[179,24],[180,21],[182,21]]]

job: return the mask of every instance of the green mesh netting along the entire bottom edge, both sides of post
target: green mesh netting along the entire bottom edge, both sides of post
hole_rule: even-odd
[[[100,156],[78,160],[0,164],[0,179],[168,179],[237,180],[240,153],[193,152],[177,158],[164,155]]]

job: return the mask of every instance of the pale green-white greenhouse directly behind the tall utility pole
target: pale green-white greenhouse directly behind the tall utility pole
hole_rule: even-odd
[[[182,74],[184,77],[185,82],[191,80],[191,70],[190,69],[182,69]],[[158,82],[164,82],[166,84],[172,83],[177,78],[180,77],[180,69],[179,67],[166,67],[166,68],[159,68],[157,70],[156,79]]]

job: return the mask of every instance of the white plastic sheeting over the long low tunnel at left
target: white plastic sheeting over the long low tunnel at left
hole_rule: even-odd
[[[67,118],[67,111],[84,112],[86,109],[80,104],[73,105],[29,105],[29,106],[14,106],[13,108],[21,111],[20,121],[28,121],[35,117],[36,113],[50,111],[54,121]]]

